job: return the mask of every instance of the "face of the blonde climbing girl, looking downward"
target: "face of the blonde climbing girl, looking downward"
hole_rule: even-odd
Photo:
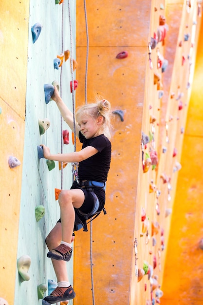
[[[81,133],[86,137],[86,139],[90,139],[101,134],[99,133],[99,128],[101,127],[101,117],[94,119],[92,116],[81,115],[78,118],[78,125]]]

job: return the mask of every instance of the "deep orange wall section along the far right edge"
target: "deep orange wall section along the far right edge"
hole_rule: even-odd
[[[200,29],[203,33],[203,21]],[[162,304],[203,304],[203,40],[197,49],[169,245],[163,278]]]

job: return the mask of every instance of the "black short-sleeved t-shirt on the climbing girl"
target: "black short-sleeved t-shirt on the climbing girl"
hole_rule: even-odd
[[[86,139],[81,132],[79,132],[79,140],[82,143],[82,149],[92,146],[98,150],[92,157],[79,162],[79,179],[106,182],[111,162],[110,140],[104,134]]]

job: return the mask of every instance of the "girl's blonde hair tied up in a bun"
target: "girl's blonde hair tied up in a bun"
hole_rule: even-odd
[[[94,119],[101,115],[103,117],[103,124],[100,130],[111,139],[111,104],[108,100],[102,99],[96,103],[79,106],[76,109],[76,121],[80,115],[91,116]]]

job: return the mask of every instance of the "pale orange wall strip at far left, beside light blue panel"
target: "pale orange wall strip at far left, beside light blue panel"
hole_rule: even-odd
[[[22,165],[10,169],[8,158],[22,164],[28,8],[26,1],[0,2],[0,297],[9,304],[14,304]]]

